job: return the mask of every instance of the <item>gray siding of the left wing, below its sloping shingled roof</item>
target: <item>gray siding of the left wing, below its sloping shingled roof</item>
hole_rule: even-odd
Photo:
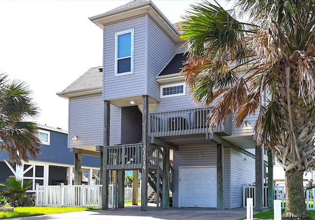
[[[104,102],[102,94],[69,98],[69,148],[102,146],[104,127]],[[120,109],[111,105],[110,141],[120,141]],[[73,136],[78,140],[72,140]]]

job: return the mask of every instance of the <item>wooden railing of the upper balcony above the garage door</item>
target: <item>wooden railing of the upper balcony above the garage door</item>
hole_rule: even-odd
[[[157,112],[149,114],[150,136],[173,136],[184,134],[200,134],[209,132],[208,114],[212,107],[184,109],[177,111]],[[221,136],[231,135],[231,116],[213,132]]]

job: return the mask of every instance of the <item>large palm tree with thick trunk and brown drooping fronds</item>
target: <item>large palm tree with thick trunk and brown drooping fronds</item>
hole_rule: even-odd
[[[188,61],[182,73],[196,102],[214,103],[213,129],[234,112],[236,126],[259,112],[256,144],[286,174],[284,220],[309,220],[303,171],[314,154],[315,1],[237,0],[231,16],[218,3],[191,5],[181,24]]]

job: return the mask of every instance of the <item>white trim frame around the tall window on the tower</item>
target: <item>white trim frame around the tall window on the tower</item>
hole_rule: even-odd
[[[129,72],[123,72],[123,73],[118,73],[118,66],[117,66],[117,61],[118,61],[118,35],[125,34],[125,33],[131,33],[131,55],[130,55],[130,71]],[[133,74],[133,36],[134,36],[134,30],[129,29],[126,31],[120,31],[115,33],[115,76],[125,76],[125,75],[130,75]],[[124,57],[121,59],[125,59],[128,57]]]

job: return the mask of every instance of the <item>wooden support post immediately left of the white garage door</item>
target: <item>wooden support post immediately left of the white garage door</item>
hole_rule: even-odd
[[[169,209],[169,148],[163,148],[163,150],[162,208]],[[159,196],[159,192],[157,192],[157,196]]]

